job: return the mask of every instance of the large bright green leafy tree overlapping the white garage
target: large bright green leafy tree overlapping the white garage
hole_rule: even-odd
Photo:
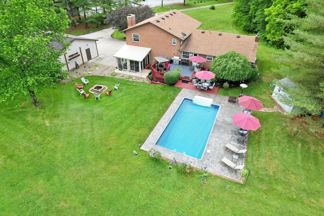
[[[67,78],[59,57],[68,44],[63,31],[66,12],[55,13],[49,0],[0,2],[0,102],[29,97],[38,110],[36,93]],[[53,44],[60,44],[55,49]]]

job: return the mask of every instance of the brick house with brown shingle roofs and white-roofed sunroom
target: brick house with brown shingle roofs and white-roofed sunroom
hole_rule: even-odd
[[[204,67],[209,69],[214,57],[228,51],[246,56],[252,64],[256,62],[259,35],[197,29],[201,22],[178,10],[139,23],[135,15],[130,14],[127,23],[128,28],[121,31],[126,34],[126,45],[114,55],[119,69],[142,71],[157,56],[178,56],[181,62],[188,62],[189,56],[200,56],[207,59]]]

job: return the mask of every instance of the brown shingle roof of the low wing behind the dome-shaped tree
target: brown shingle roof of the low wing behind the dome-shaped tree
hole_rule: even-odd
[[[183,41],[179,51],[219,56],[229,51],[235,51],[246,56],[249,62],[255,62],[258,42],[255,36],[239,35],[191,29],[191,35]],[[219,33],[222,33],[219,35]]]

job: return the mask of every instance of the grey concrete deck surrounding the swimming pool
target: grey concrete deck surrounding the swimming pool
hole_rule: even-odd
[[[212,132],[210,134],[209,140],[205,148],[205,152],[200,160],[155,145],[156,141],[164,132],[164,129],[168,125],[174,113],[177,111],[183,99],[193,99],[193,97],[196,95],[213,99],[213,104],[220,106],[216,117],[216,121],[214,123]],[[237,112],[242,112],[243,109],[244,107],[240,106],[238,103],[229,103],[228,97],[183,89],[173,101],[173,103],[166,111],[164,116],[156,124],[151,134],[141,146],[141,149],[147,151],[150,148],[154,148],[161,152],[162,157],[167,158],[169,160],[175,158],[177,162],[189,163],[190,165],[198,169],[206,166],[206,170],[211,174],[215,174],[220,177],[224,177],[242,183],[243,180],[240,178],[241,170],[238,170],[235,173],[234,169],[230,168],[225,163],[223,163],[221,159],[223,157],[226,157],[229,160],[231,160],[232,155],[234,154],[234,152],[224,147],[227,143],[231,143],[238,149],[247,149],[247,140],[244,142],[244,145],[240,145],[237,143],[237,137],[239,135],[237,130],[239,127],[233,124],[232,121],[232,115],[234,115]],[[199,126],[199,119],[201,120],[200,123],[204,122],[203,116],[197,116],[197,126]],[[196,135],[193,131],[192,137],[188,137],[188,139],[199,139],[199,135]],[[247,151],[247,153],[248,152],[249,151]],[[236,164],[245,165],[246,154],[239,155]]]

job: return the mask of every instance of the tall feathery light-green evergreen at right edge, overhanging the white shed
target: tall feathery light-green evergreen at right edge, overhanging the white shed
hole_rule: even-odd
[[[282,70],[297,85],[286,89],[296,108],[293,114],[318,114],[324,110],[324,2],[307,0],[307,4],[305,18],[290,16],[289,20],[281,20],[282,25],[295,26],[284,36],[285,55],[278,56],[278,61],[287,65]]]

